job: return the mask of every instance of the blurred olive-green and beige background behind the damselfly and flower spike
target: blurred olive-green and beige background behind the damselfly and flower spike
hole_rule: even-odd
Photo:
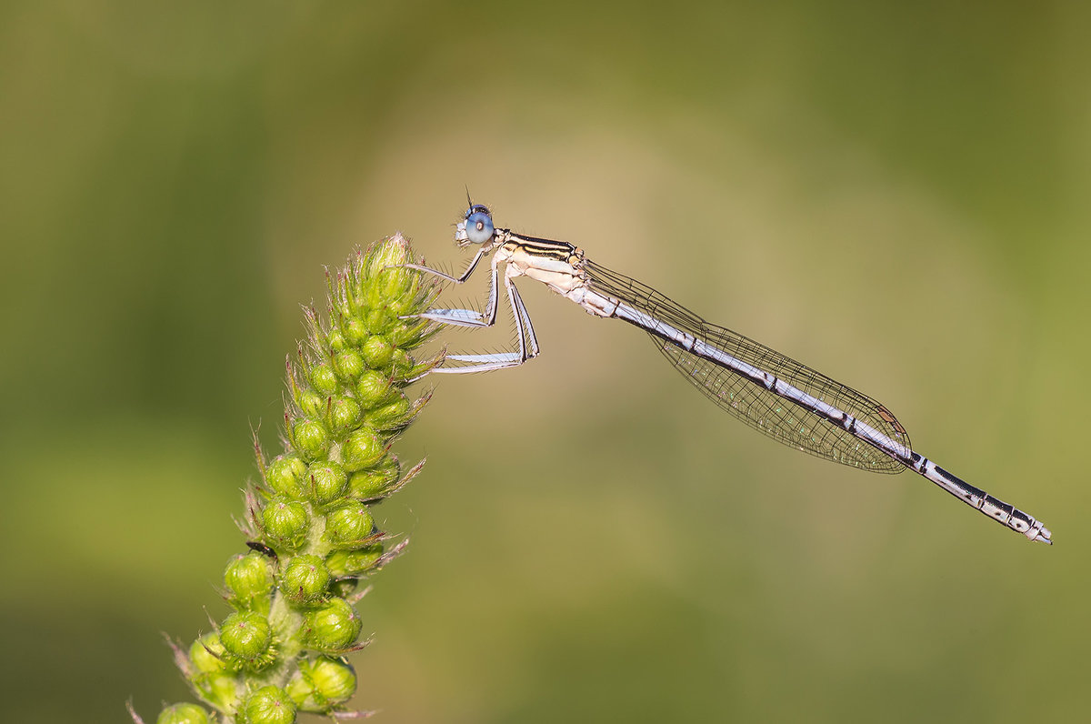
[[[793,453],[645,335],[520,289],[542,356],[432,379],[380,509],[360,708],[397,722],[1080,719],[1086,3],[8,2],[5,721],[188,699],[322,268],[464,187],[867,392],[1051,549]],[[483,290],[467,285],[452,302]],[[452,334],[459,349],[507,327]]]

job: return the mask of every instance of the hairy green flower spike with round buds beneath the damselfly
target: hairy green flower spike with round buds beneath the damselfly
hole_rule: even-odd
[[[169,641],[197,704],[166,707],[158,724],[291,724],[299,712],[362,719],[348,711],[356,672],[344,654],[367,645],[352,604],[360,580],[400,554],[371,506],[412,479],[391,453],[395,437],[428,403],[405,389],[442,354],[416,353],[435,331],[412,319],[437,286],[396,235],[358,251],[326,274],[326,313],[304,309],[309,336],[288,360],[285,450],[266,460],[255,442],[261,480],[245,491],[240,522],[250,550],[224,571],[233,609],[190,646]],[[143,724],[129,707],[132,719]]]

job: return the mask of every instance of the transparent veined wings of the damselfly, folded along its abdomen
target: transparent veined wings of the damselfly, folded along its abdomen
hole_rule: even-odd
[[[584,262],[584,269],[592,289],[622,299],[644,313],[688,332],[736,359],[772,372],[792,387],[853,415],[907,448],[912,447],[906,428],[889,410],[867,395],[786,357],[776,349],[706,322],[646,284],[589,260]],[[772,439],[818,458],[862,470],[876,473],[900,473],[904,470],[894,459],[825,417],[789,402],[731,369],[715,365],[658,336],[650,336],[656,347],[705,396]]]

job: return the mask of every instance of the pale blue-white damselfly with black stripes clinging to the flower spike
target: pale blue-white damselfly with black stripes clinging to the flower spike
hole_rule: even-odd
[[[993,520],[1031,541],[1050,543],[1047,527],[1031,515],[959,479],[914,452],[901,423],[885,406],[825,375],[723,327],[706,322],[651,287],[588,259],[566,241],[538,239],[495,228],[492,213],[473,204],[458,223],[455,241],[477,246],[461,276],[409,264],[461,284],[492,253],[484,313],[472,309],[432,309],[421,314],[443,324],[492,327],[496,322],[500,270],[515,318],[517,348],[484,355],[446,355],[434,372],[484,372],[518,367],[538,355],[530,316],[513,280],[541,282],[596,317],[621,319],[655,341],[686,380],[709,400],[751,427],[803,452],[876,473],[909,468]]]

